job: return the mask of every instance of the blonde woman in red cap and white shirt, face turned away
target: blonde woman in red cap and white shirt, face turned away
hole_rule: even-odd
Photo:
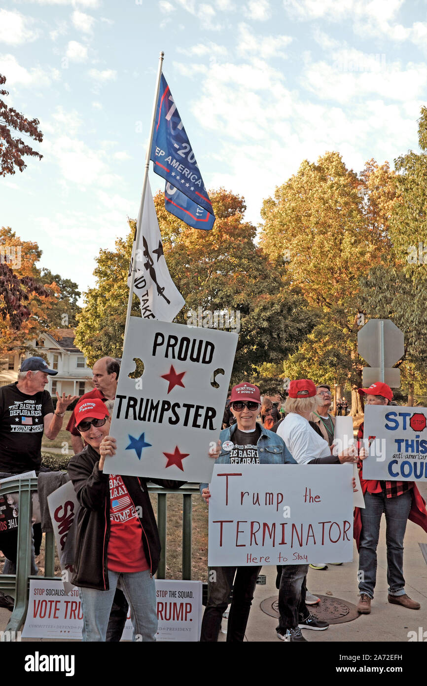
[[[331,454],[324,438],[309,423],[310,413],[317,408],[317,388],[310,379],[291,381],[284,410],[288,414],[278,427],[294,460],[300,464],[342,464],[357,460],[356,449],[350,447],[339,456]],[[306,641],[301,629],[324,631],[328,622],[310,613],[306,606],[306,575],[308,565],[284,565],[280,578],[278,638],[291,643]]]

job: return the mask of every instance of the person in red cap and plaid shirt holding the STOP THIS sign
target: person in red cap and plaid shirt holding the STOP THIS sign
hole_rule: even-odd
[[[372,383],[369,388],[359,388],[365,405],[389,405],[393,392],[387,383]],[[363,439],[363,423],[358,430],[358,440]],[[363,448],[361,449],[361,455]],[[362,466],[361,464],[359,465]],[[419,602],[409,598],[405,592],[403,576],[403,539],[406,522],[412,519],[427,531],[427,512],[424,500],[414,482],[376,481],[363,479],[361,486],[365,496],[365,508],[354,510],[354,538],[359,553],[359,595],[357,611],[362,615],[371,612],[376,583],[376,548],[380,535],[380,521],[385,514],[387,542],[388,600],[411,610],[419,610]]]

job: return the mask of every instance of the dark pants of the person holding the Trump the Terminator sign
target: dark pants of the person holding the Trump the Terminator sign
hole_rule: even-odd
[[[209,595],[203,615],[200,641],[217,641],[222,615],[228,606],[233,589],[232,603],[228,615],[227,641],[241,643],[245,638],[247,619],[254,598],[256,579],[262,567],[210,567],[216,580],[209,582]],[[236,578],[234,578],[234,574]],[[234,580],[234,584],[233,584]]]

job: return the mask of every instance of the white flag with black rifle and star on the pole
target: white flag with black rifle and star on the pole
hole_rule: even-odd
[[[149,181],[145,190],[140,244],[136,246],[134,293],[141,302],[143,319],[171,322],[185,300],[171,279],[164,259],[162,237]],[[130,286],[130,270],[127,279]]]

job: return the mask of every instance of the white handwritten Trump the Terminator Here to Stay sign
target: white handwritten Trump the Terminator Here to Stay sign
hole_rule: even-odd
[[[351,464],[216,464],[209,488],[210,566],[352,560]]]

